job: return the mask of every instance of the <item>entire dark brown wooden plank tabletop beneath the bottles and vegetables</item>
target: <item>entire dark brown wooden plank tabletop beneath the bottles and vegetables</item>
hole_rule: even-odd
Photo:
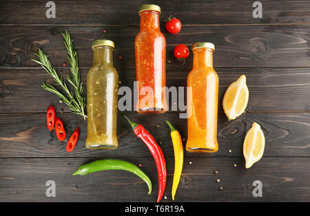
[[[70,114],[68,106],[60,103],[56,95],[40,87],[52,79],[30,60],[41,48],[57,72],[66,76],[70,69],[61,32],[68,30],[79,54],[85,83],[92,66],[92,41],[112,39],[116,43],[114,65],[121,86],[132,88],[136,78],[137,10],[149,1],[57,0],[56,18],[50,19],[45,16],[46,2],[0,3],[0,201],[156,201],[154,160],[122,117],[124,112],[118,115],[117,149],[86,149],[86,121]],[[214,66],[220,78],[219,151],[185,153],[176,202],[310,201],[310,2],[264,0],[262,18],[257,19],[252,14],[253,2],[154,1],[162,9],[161,29],[167,40],[167,86],[185,87],[192,67],[192,54],[185,65],[174,58],[173,50],[179,43],[188,47],[196,41],[214,43]],[[164,18],[170,14],[183,23],[181,32],[175,35],[164,28]],[[67,66],[63,67],[63,63]],[[221,101],[228,85],[241,74],[247,76],[249,104],[245,114],[228,121]],[[45,111],[49,105],[56,107],[69,133],[76,126],[81,127],[81,138],[72,153],[67,153],[66,142],[59,142],[54,131],[46,127]],[[143,123],[161,143],[167,162],[167,188],[162,202],[172,202],[174,151],[165,120],[177,127],[185,141],[187,120],[178,118],[179,111],[147,117],[134,111],[125,114]],[[262,126],[266,147],[263,158],[247,170],[242,144],[254,121]],[[103,158],[141,164],[152,179],[153,193],[147,195],[145,183],[125,171],[72,176],[81,164]],[[48,180],[56,184],[56,197],[45,194]],[[252,193],[255,180],[262,182],[262,197]]]

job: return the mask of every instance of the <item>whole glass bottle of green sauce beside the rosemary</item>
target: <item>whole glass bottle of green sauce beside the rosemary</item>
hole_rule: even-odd
[[[94,65],[87,74],[87,149],[116,149],[118,73],[113,67],[114,42],[92,43]]]

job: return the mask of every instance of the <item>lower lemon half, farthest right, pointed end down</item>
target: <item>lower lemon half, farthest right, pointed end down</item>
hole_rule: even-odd
[[[243,142],[243,155],[245,156],[245,168],[249,169],[254,163],[262,158],[265,149],[265,136],[260,125],[254,122],[247,131]]]

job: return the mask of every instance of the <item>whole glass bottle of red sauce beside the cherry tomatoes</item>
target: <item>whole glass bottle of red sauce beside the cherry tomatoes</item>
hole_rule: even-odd
[[[161,8],[147,4],[139,8],[140,32],[136,36],[136,111],[159,114],[167,111],[165,98],[166,40],[159,28]]]

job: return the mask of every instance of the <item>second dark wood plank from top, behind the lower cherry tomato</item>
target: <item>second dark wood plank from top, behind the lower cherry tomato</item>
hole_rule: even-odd
[[[92,41],[101,39],[106,30],[104,38],[116,43],[114,65],[134,69],[134,38],[138,29],[138,26],[3,26],[0,66],[39,67],[30,59],[36,58],[33,52],[41,47],[54,67],[63,67],[68,59],[61,32],[69,30],[78,50],[79,66],[92,67]],[[181,65],[173,50],[179,43],[190,48],[197,41],[215,44],[215,67],[310,67],[309,31],[309,25],[184,26],[180,34],[165,34],[167,68],[190,69],[192,54]],[[121,60],[118,56],[122,56]]]

